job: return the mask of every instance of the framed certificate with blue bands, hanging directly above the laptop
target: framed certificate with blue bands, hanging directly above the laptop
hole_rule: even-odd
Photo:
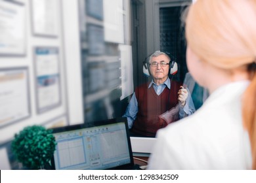
[[[37,113],[40,114],[61,104],[59,52],[56,47],[35,47],[33,51]]]

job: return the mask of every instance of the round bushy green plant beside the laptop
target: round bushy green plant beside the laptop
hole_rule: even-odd
[[[53,157],[55,146],[49,129],[32,125],[14,135],[11,148],[18,161],[28,169],[44,169]]]

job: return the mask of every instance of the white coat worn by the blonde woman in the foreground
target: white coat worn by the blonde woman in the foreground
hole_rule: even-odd
[[[249,81],[218,88],[192,116],[158,130],[148,169],[251,169],[241,96]]]

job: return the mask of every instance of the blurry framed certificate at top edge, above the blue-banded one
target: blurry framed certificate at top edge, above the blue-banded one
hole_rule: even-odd
[[[32,0],[32,30],[34,35],[58,36],[58,0]]]

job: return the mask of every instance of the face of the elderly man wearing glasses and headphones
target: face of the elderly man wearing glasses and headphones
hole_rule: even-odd
[[[160,82],[165,82],[169,73],[169,65],[166,65],[164,67],[160,65],[160,62],[169,63],[169,59],[165,55],[160,55],[157,57],[153,57],[152,60],[150,61],[150,63],[154,62],[158,63],[156,67],[152,67],[152,65],[150,65],[150,73],[154,79],[154,82],[156,82],[156,80]]]

